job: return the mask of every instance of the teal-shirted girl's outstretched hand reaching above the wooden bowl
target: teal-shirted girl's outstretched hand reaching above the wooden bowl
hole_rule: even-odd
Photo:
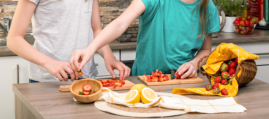
[[[93,55],[94,53],[91,53],[90,50],[87,49],[74,51],[70,59],[71,68],[73,68],[76,72],[81,71],[82,68],[86,65],[86,63],[91,60],[91,57]]]

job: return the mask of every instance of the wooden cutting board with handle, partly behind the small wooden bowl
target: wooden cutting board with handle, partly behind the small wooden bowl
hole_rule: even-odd
[[[110,80],[114,81],[114,82],[117,82],[117,80],[119,80],[119,79],[110,79]],[[125,84],[122,87],[117,86],[115,88],[114,87],[106,87],[106,88],[109,88],[110,90],[113,90],[113,91],[115,91],[115,90],[129,90],[135,85],[134,83],[132,83],[132,82],[130,82],[128,80],[124,80],[124,81],[125,81]],[[69,92],[70,91],[70,86],[71,85],[62,85],[62,86],[59,87],[59,90],[61,92]]]

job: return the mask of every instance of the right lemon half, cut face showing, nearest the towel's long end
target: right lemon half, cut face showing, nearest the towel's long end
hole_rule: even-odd
[[[155,91],[148,87],[143,88],[140,95],[141,95],[141,101],[145,104],[151,103],[152,101],[154,101],[154,99],[158,98]]]

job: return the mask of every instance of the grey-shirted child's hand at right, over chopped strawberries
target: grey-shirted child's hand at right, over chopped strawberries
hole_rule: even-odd
[[[104,58],[107,71],[110,73],[113,79],[116,78],[116,73],[113,71],[117,69],[120,71],[120,80],[124,80],[130,76],[131,69],[124,65],[122,62],[116,60],[113,57]]]

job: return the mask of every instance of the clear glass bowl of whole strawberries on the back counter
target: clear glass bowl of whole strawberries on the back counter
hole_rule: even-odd
[[[250,35],[253,33],[255,26],[257,24],[257,20],[248,17],[237,17],[235,21],[233,21],[233,28],[236,33],[241,35]]]

